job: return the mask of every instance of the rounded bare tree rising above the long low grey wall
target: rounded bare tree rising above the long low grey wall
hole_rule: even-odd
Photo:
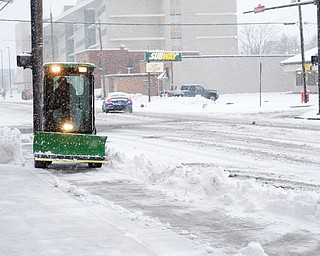
[[[249,55],[274,53],[277,35],[277,30],[267,24],[245,26],[239,31],[240,52]]]

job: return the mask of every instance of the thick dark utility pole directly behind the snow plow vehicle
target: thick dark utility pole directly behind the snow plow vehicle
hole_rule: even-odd
[[[33,131],[42,130],[43,30],[42,0],[31,0],[31,48],[33,84]]]

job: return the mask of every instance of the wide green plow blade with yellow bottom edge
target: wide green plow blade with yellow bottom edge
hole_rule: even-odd
[[[94,134],[36,132],[33,141],[35,159],[104,162],[106,136]]]

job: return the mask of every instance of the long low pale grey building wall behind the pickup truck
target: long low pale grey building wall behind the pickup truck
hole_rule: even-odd
[[[238,55],[185,57],[173,65],[173,84],[202,84],[220,94],[291,92],[294,73],[284,72],[280,62],[288,55]],[[260,77],[261,66],[261,77]]]

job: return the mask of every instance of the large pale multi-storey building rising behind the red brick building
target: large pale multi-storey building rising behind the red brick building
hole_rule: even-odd
[[[124,45],[132,50],[237,54],[236,0],[78,0],[44,30],[45,61]]]

